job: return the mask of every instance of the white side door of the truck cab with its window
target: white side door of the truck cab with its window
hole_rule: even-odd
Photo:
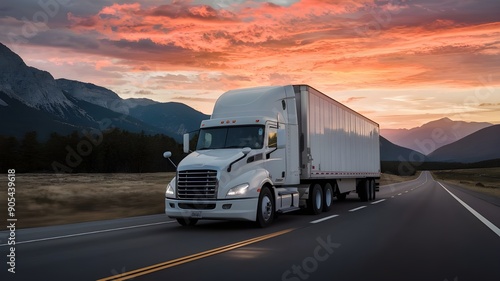
[[[285,125],[280,124],[280,128]],[[286,175],[286,151],[284,148],[277,149],[278,126],[275,122],[266,125],[266,155],[265,167],[270,174],[274,185],[282,185]]]

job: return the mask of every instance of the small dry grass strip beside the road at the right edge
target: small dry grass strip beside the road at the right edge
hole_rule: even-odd
[[[500,168],[433,171],[435,179],[500,198]]]

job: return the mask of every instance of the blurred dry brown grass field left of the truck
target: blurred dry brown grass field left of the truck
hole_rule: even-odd
[[[16,174],[18,228],[164,212],[165,188],[175,173]],[[2,177],[0,202],[7,202]],[[7,211],[2,210],[2,217]],[[4,220],[5,221],[5,220]]]

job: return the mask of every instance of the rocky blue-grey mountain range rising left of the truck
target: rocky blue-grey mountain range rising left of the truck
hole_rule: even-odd
[[[36,131],[41,139],[86,129],[116,127],[130,132],[165,134],[176,140],[209,118],[181,103],[122,99],[91,83],[54,79],[27,66],[0,43],[0,135],[22,137]],[[106,126],[105,126],[106,125]]]

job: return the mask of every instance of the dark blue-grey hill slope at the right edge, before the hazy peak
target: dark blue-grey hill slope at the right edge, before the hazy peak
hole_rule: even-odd
[[[493,125],[443,146],[428,155],[429,162],[474,163],[500,158],[500,125]]]

